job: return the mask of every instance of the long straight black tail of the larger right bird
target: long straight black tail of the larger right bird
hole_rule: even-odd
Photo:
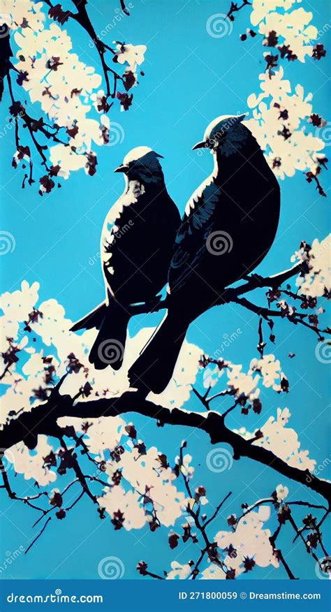
[[[189,323],[179,312],[168,313],[128,370],[133,388],[144,393],[162,393],[168,385],[182,348]]]

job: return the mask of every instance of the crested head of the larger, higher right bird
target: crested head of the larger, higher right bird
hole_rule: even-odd
[[[228,156],[242,148],[248,138],[252,138],[249,129],[242,124],[246,115],[222,115],[209,123],[203,140],[196,143],[194,149],[209,149],[212,153],[220,151]]]

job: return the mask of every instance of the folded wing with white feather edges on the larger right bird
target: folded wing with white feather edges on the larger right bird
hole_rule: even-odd
[[[170,291],[179,289],[205,256],[213,214],[221,191],[209,177],[191,196],[177,232],[169,270]]]

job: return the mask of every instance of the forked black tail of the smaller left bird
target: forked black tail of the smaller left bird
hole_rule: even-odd
[[[98,329],[98,335],[89,353],[89,362],[94,363],[96,370],[103,370],[111,365],[119,370],[124,357],[126,328],[130,314],[115,300],[109,304],[100,304],[84,319],[75,323],[71,331],[80,329]]]

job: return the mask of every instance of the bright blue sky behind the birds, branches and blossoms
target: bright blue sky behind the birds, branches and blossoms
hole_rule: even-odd
[[[115,17],[115,3],[110,4],[107,9],[101,0],[94,0],[91,5],[91,19],[97,33]],[[205,28],[207,18],[213,13],[226,13],[230,5],[228,0],[201,0],[200,3],[195,0],[133,0],[133,4],[131,17],[111,29],[105,42],[124,40],[147,45],[145,77],[140,78],[140,85],[134,91],[131,109],[119,112],[115,105],[110,112],[110,121],[122,126],[124,140],[114,147],[98,148],[96,176],[73,173],[62,184],[62,189],[43,198],[38,195],[36,186],[22,191],[19,170],[15,173],[11,168],[11,154],[15,151],[13,130],[1,138],[1,226],[13,233],[16,240],[15,251],[1,261],[1,286],[13,291],[19,288],[22,279],[31,283],[38,281],[41,300],[57,298],[73,320],[103,300],[103,279],[97,256],[101,227],[110,205],[123,189],[122,175],[114,175],[112,170],[133,147],[152,147],[164,156],[162,164],[168,191],[182,212],[189,196],[212,167],[211,156],[198,156],[191,151],[192,145],[202,138],[205,127],[214,117],[247,110],[247,96],[258,92],[258,74],[264,68],[258,37],[246,43],[239,40],[239,35],[249,26],[249,8],[238,13],[232,36],[212,38]],[[328,3],[315,4],[318,10],[303,2],[306,10],[314,11],[314,24],[321,28],[325,24]],[[85,33],[73,22],[68,24],[68,31],[80,59],[98,70],[96,52],[89,48]],[[327,35],[323,43],[328,47]],[[304,65],[296,61],[283,66],[293,85],[300,82],[305,92],[314,94],[315,112],[326,117],[326,61],[311,60]],[[1,109],[1,125],[8,115],[7,101],[5,98]],[[328,177],[323,174],[326,188]],[[319,197],[304,176],[298,173],[281,182],[281,197],[279,231],[270,253],[258,269],[260,274],[289,267],[290,256],[302,239],[309,242],[324,238],[327,233],[326,198]],[[260,300],[262,298],[260,296]],[[150,325],[160,316],[151,316]],[[224,334],[231,335],[240,328],[242,333],[225,356],[247,368],[251,358],[257,356],[257,323],[252,313],[233,305],[213,309],[191,326],[189,340],[213,354]],[[135,319],[131,323],[131,333],[135,333],[138,326],[139,320]],[[268,416],[276,414],[278,406],[287,406],[292,414],[290,425],[300,432],[302,448],[309,449],[311,456],[320,463],[330,456],[325,427],[326,366],[315,358],[316,341],[309,330],[292,327],[286,321],[277,323],[276,330],[277,344],[275,347],[269,344],[267,349],[281,360],[290,380],[290,394],[265,391],[260,417],[231,416],[228,424],[234,428],[242,424],[253,430]],[[289,352],[295,353],[296,358],[290,360]],[[190,406],[198,409],[196,400],[192,400]],[[242,502],[251,503],[270,495],[279,482],[290,487],[292,499],[305,495],[308,501],[316,502],[316,496],[308,490],[302,493],[295,483],[286,482],[271,469],[261,469],[246,460],[235,462],[229,472],[219,476],[208,472],[205,456],[210,445],[203,433],[192,435],[184,429],[159,429],[155,423],[146,422],[139,416],[133,416],[133,421],[138,430],[140,425],[144,426],[146,444],[156,444],[169,457],[177,454],[181,440],[189,436],[188,450],[212,503],[216,504],[228,490],[233,490],[233,502],[226,504],[223,514],[215,521],[215,533],[225,527],[224,518],[228,514],[240,510]],[[326,477],[324,472],[323,477]],[[20,483],[18,478],[15,482],[17,487],[27,484]],[[2,521],[0,564],[6,551],[14,551],[20,545],[27,547],[34,534],[31,525],[35,520],[34,512],[22,508],[18,502],[5,499],[3,511],[6,519]],[[38,545],[28,556],[21,555],[3,577],[97,578],[99,560],[115,555],[124,561],[124,577],[138,578],[135,564],[141,559],[150,562],[153,571],[169,568],[175,555],[168,547],[167,534],[165,528],[154,534],[148,528],[140,532],[115,532],[109,520],[99,520],[88,501],[82,500],[76,512],[69,513],[65,521],[52,520]],[[279,544],[284,552],[291,548],[288,531]],[[176,553],[179,562],[196,556],[192,549],[183,546]],[[314,577],[314,564],[301,546],[293,546],[287,560],[290,567],[300,569],[301,577]],[[267,571],[257,569],[253,577],[277,579],[286,575],[282,569],[271,571],[268,568]]]

